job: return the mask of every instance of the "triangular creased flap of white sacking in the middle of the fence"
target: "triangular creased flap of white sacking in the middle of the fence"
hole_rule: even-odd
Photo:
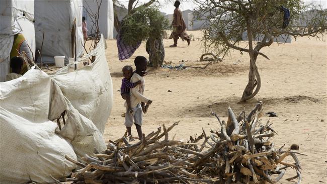
[[[66,124],[57,134],[71,143],[77,156],[93,154],[94,150],[103,151],[106,143],[102,134],[88,118],[81,115],[63,96],[60,87],[53,81],[49,120],[55,120],[66,111]]]

